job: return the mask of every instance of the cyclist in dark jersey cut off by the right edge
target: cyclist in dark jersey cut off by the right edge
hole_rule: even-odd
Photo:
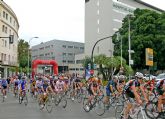
[[[158,97],[158,112],[160,115],[163,113],[162,112],[162,104],[165,104],[165,79],[162,79],[157,82],[156,84],[156,90],[159,95]]]

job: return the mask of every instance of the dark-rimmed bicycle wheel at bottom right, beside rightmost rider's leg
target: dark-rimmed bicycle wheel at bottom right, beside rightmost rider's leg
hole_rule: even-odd
[[[159,113],[157,111],[157,102],[149,102],[145,105],[145,113],[150,119],[155,119],[158,117]]]

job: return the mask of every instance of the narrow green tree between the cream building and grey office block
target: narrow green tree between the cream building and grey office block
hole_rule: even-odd
[[[25,40],[21,39],[18,42],[18,62],[19,67],[25,68],[28,66],[28,49],[29,44]]]

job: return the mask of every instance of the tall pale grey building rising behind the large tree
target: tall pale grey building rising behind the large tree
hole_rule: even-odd
[[[85,55],[91,56],[92,47],[99,39],[112,36],[122,26],[122,19],[136,8],[163,10],[142,0],[85,0]],[[94,55],[113,55],[111,38],[97,44]]]

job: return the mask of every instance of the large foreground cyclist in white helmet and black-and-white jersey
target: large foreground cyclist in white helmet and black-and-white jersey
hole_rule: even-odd
[[[142,92],[146,103],[148,103],[147,95],[145,94],[144,87],[143,87],[143,74],[140,72],[136,72],[135,79],[130,80],[126,83],[124,87],[125,97],[128,99],[128,102],[125,107],[124,118],[128,118],[128,113],[132,109],[133,104],[136,100],[137,104],[142,104],[141,95],[139,91]]]

